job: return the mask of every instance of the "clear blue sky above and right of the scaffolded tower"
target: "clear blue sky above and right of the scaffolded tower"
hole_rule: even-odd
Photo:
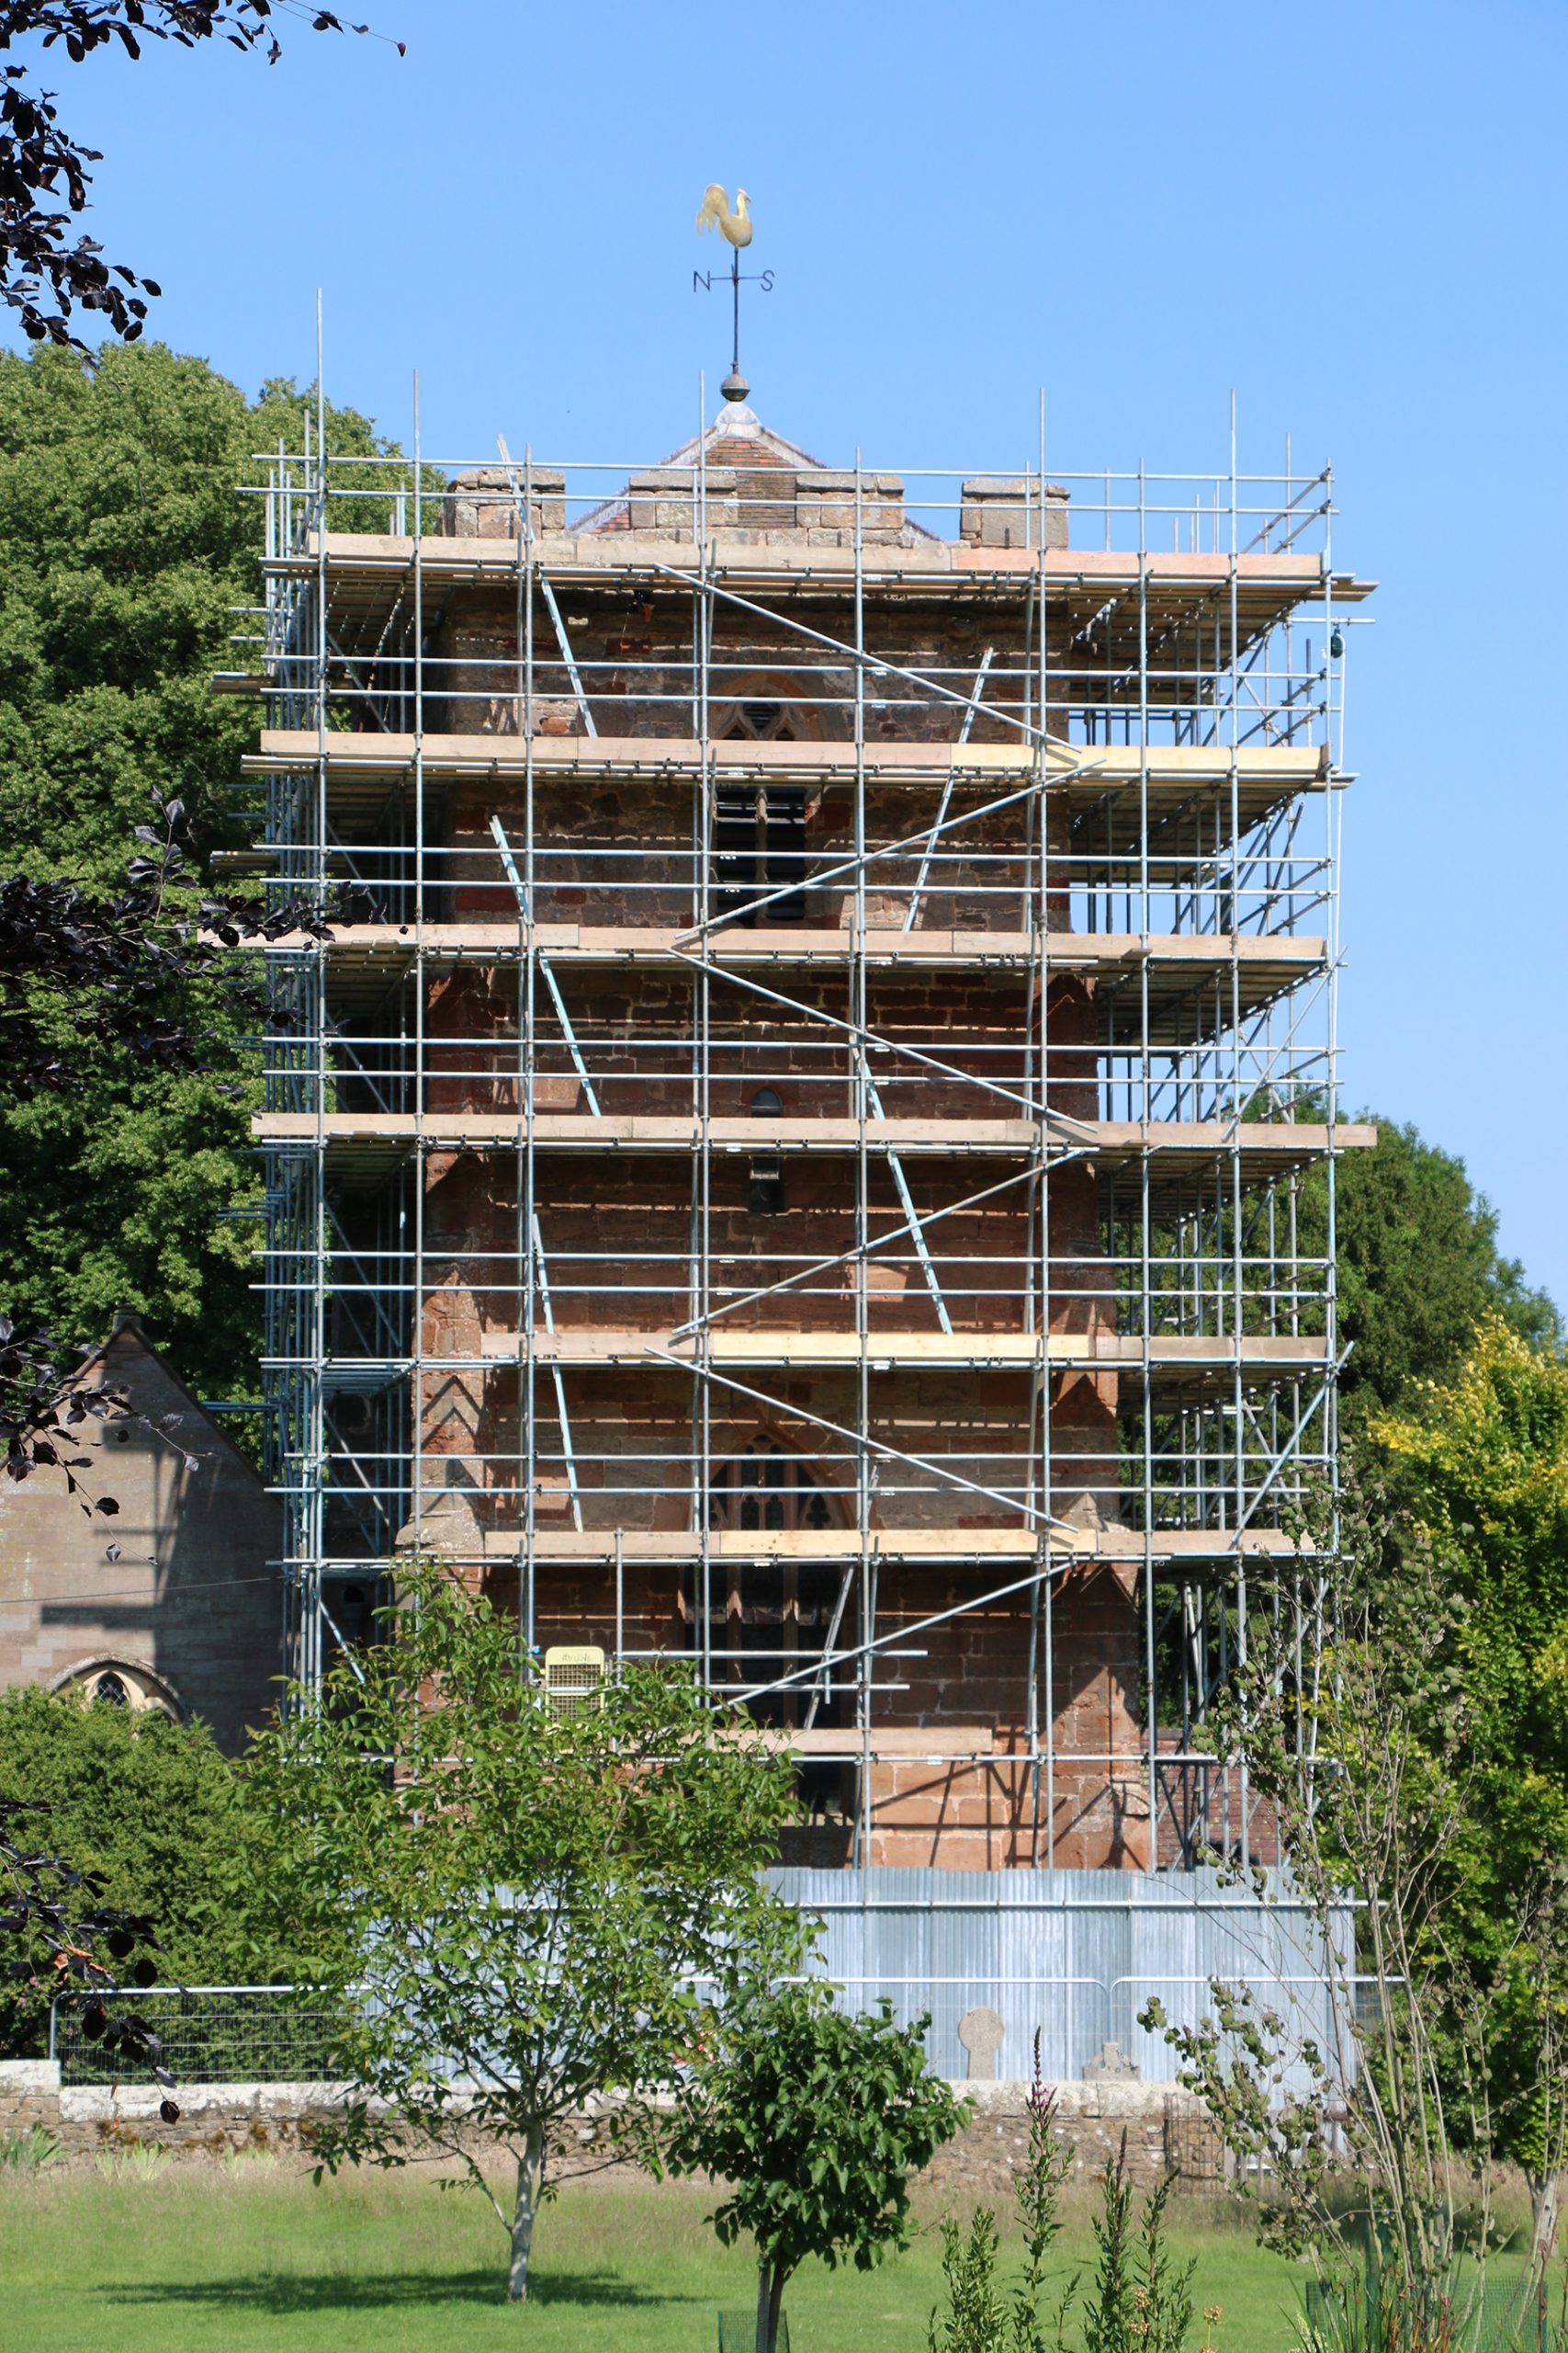
[[[726,365],[691,294],[743,181],[745,365],[844,464],[1331,456],[1352,638],[1352,1104],[1465,1155],[1568,1304],[1561,0],[355,0],[228,49],[63,59],[94,231],[153,332],[247,391],[315,369],[425,449],[654,459]]]

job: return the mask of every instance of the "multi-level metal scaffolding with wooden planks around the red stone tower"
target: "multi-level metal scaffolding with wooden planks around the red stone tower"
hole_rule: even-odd
[[[842,1861],[978,1791],[987,1864],[1255,1859],[1194,1725],[1335,1475],[1371,1141],[1331,473],[832,471],[736,405],[261,464],[247,864],[374,908],[268,948],[292,1671],[437,1551],[527,1659],[691,1659]]]

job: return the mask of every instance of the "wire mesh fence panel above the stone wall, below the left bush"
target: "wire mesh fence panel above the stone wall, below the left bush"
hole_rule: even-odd
[[[336,2073],[343,2014],[299,1986],[148,1986],[113,2000],[162,2035],[162,2064],[179,2082],[324,2082]],[[80,2002],[54,2005],[49,2057],[61,2085],[106,2085],[122,2073],[113,2052],[82,2033]]]

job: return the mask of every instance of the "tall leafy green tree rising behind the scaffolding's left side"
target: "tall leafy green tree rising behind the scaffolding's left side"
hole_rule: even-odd
[[[153,795],[181,800],[195,899],[256,807],[235,793],[254,706],[212,694],[235,661],[233,607],[256,602],[254,452],[301,447],[308,395],[256,402],[162,346],[0,355],[0,828],[7,871],[125,889]],[[327,447],[388,454],[369,419],[331,409]],[[367,471],[364,485],[374,475]],[[346,487],[355,487],[350,473]],[[374,525],[376,511],[367,508]],[[59,995],[71,1035],[71,993]],[[99,1341],[115,1306],[207,1395],[254,1395],[256,1162],[247,1113],[259,1056],[221,984],[179,1007],[202,1068],[148,1068],[132,1045],[87,1049],[75,1089],[0,1071],[0,1306],[61,1346]]]

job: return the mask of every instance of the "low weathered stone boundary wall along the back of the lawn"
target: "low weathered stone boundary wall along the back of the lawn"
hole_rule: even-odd
[[[959,2082],[973,2101],[973,2122],[943,2148],[922,2177],[933,2191],[1004,2205],[1030,2146],[1025,2082]],[[270,2148],[303,2155],[313,2122],[341,2108],[336,2082],[216,2082],[181,2085],[179,2122],[158,2115],[158,2085],[61,2085],[54,2059],[0,2061],[0,2134],[42,2125],[66,2158],[92,2158],[110,2146],[158,2146],[169,2155],[235,2155]],[[1178,2186],[1213,2191],[1225,2179],[1220,2139],[1190,2092],[1161,2082],[1063,2082],[1056,2115],[1072,2141],[1077,2179],[1091,2179],[1117,2155],[1126,2132],[1133,2181],[1147,2186],[1178,2169]],[[571,2146],[574,2134],[567,2134]],[[567,2167],[571,2169],[571,2167]],[[595,2167],[607,2172],[607,2167]],[[632,2167],[609,2167],[630,2177]]]

